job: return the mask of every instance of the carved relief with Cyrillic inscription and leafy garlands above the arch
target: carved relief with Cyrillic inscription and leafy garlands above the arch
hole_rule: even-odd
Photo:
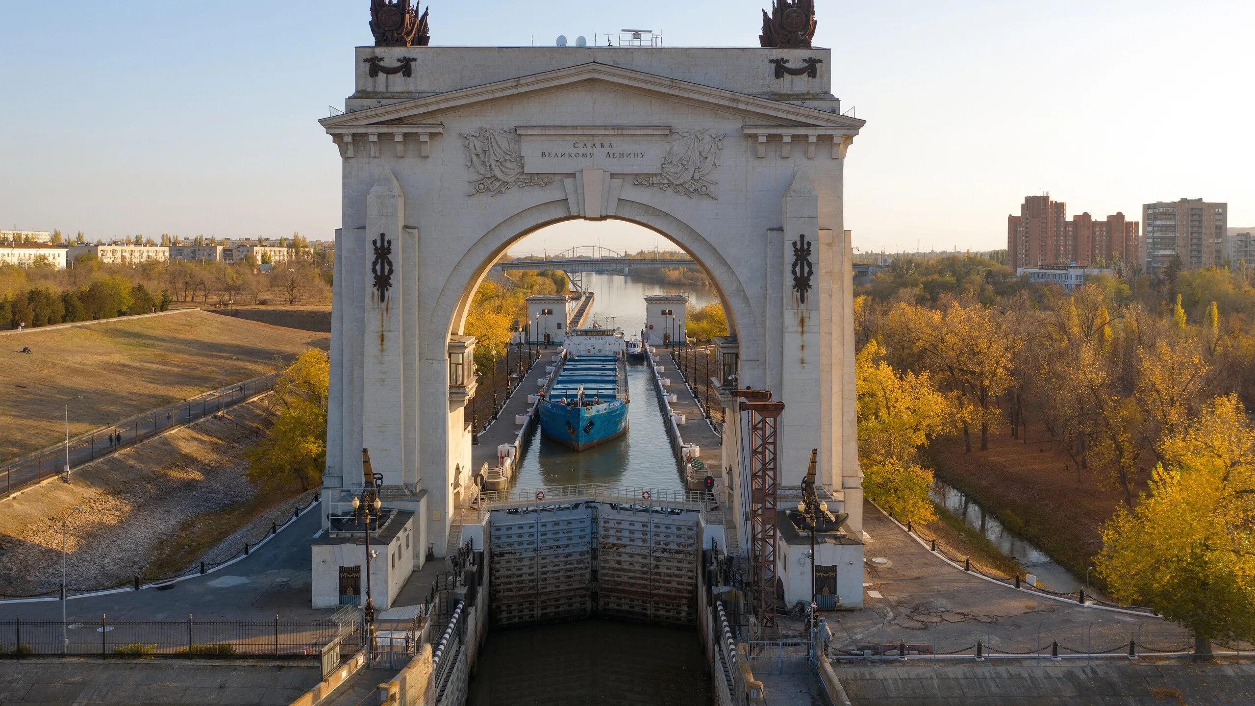
[[[467,166],[478,173],[471,180],[469,193],[503,193],[515,187],[547,186],[553,173],[575,173],[582,168],[602,168],[612,173],[636,175],[636,186],[659,188],[688,197],[715,198],[712,173],[719,166],[724,134],[712,129],[670,131],[669,128],[630,128],[630,133],[587,136],[580,128],[545,134],[481,127],[462,133]],[[565,128],[561,131],[566,132]]]

